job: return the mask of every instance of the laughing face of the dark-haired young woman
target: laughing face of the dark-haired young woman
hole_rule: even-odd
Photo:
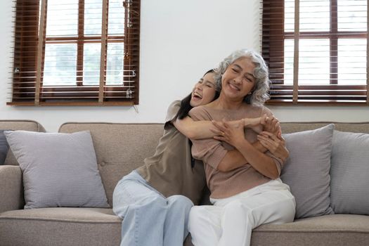
[[[208,72],[195,84],[191,93],[190,105],[197,107],[212,102],[215,96],[215,89],[214,72]]]

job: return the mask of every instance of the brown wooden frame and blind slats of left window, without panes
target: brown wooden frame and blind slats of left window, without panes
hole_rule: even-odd
[[[41,4],[41,6],[40,6]],[[102,33],[84,35],[84,0],[78,0],[78,34],[75,37],[46,37],[47,0],[18,0],[15,3],[12,98],[7,105],[138,105],[140,0],[124,1],[124,34],[108,35],[108,4],[103,0]],[[105,11],[105,13],[104,13]],[[128,20],[128,21],[127,21]],[[40,35],[38,35],[40,33]],[[19,35],[19,36],[18,36]],[[124,44],[122,85],[107,85],[108,44]],[[46,44],[75,44],[75,85],[44,86]],[[83,84],[84,44],[101,44],[100,82]],[[133,86],[132,86],[133,84]],[[129,91],[131,90],[131,91]],[[91,96],[89,96],[91,95]]]

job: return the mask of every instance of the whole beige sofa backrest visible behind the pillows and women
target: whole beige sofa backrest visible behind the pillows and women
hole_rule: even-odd
[[[283,133],[317,129],[335,123],[339,131],[369,133],[369,122],[282,122]],[[40,131],[44,127],[32,120],[0,120],[0,129]],[[163,133],[163,124],[119,124],[119,123],[81,123],[67,122],[60,126],[59,132],[91,131],[96,150],[98,169],[101,172],[108,202],[112,205],[112,192],[122,176],[140,167],[145,157],[153,155]],[[16,165],[11,150],[5,164]]]

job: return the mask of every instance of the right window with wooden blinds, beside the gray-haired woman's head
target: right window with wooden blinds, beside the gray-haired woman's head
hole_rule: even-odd
[[[269,104],[369,104],[368,0],[264,0]]]

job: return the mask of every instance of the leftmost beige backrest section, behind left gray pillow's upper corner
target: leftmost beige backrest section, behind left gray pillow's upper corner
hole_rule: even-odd
[[[1,130],[24,130],[24,131],[39,131],[45,132],[44,127],[42,127],[39,122],[35,122],[34,120],[28,119],[0,119],[0,129]],[[8,155],[6,155],[6,160],[4,162],[6,165],[18,165],[17,160],[15,159],[13,152],[11,150],[8,151]]]

